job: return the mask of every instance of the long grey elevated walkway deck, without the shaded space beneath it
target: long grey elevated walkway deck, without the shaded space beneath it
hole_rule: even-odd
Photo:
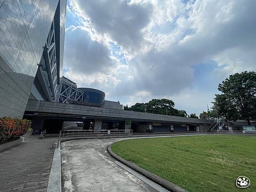
[[[180,116],[124,111],[111,108],[100,108],[87,105],[76,105],[58,102],[46,102],[29,99],[26,116],[46,116],[52,118],[83,121],[85,119],[131,120],[143,122],[182,123],[188,125],[211,125],[212,120],[194,119]]]

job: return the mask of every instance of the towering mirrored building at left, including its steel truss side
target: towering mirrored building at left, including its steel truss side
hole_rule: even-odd
[[[58,101],[67,0],[0,0],[0,117]]]

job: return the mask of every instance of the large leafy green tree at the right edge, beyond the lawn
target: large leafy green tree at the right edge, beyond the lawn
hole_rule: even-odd
[[[256,119],[256,73],[235,73],[218,85],[221,94],[215,95],[214,110],[229,120]]]

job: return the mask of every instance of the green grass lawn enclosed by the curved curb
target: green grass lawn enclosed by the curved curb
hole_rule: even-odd
[[[124,140],[114,153],[186,190],[256,191],[256,137],[205,135]],[[236,178],[250,179],[247,189]]]

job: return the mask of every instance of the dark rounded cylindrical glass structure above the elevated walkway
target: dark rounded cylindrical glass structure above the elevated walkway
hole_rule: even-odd
[[[104,105],[104,101],[105,101],[104,92],[100,90],[92,89],[92,88],[79,88],[79,89],[84,92],[84,98],[83,98],[84,102]]]

